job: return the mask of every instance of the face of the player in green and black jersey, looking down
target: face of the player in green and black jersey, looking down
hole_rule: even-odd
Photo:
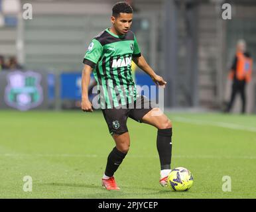
[[[133,13],[119,13],[118,17],[111,17],[111,22],[118,34],[125,34],[131,28]]]

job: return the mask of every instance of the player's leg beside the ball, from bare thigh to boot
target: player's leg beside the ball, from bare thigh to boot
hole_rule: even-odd
[[[157,151],[159,152],[160,159],[160,184],[166,185],[167,176],[171,171],[172,123],[159,108],[154,108],[149,111],[142,118],[142,122],[152,125],[158,129]]]

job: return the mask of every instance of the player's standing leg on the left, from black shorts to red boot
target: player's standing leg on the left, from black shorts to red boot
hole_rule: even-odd
[[[107,165],[102,178],[103,187],[109,190],[119,189],[113,175],[119,168],[121,162],[123,162],[130,146],[129,132],[126,126],[126,111],[126,109],[102,110],[109,132],[115,140],[115,147],[107,157]]]

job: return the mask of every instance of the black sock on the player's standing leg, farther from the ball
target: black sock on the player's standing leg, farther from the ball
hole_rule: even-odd
[[[113,148],[113,150],[109,153],[107,157],[107,166],[105,168],[105,175],[111,177],[114,175],[117,168],[120,166],[121,162],[125,158],[127,153],[120,152],[117,148]]]

